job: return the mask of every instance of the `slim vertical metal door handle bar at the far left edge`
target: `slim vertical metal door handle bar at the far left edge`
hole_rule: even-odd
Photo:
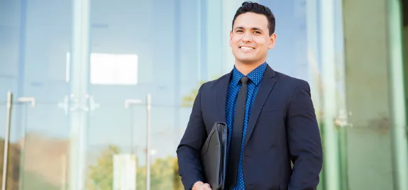
[[[1,190],[6,190],[7,182],[7,165],[9,162],[9,141],[10,141],[10,128],[11,128],[11,111],[13,108],[13,94],[11,91],[7,93],[7,118],[6,118],[6,139],[4,140],[4,153],[3,153],[3,179],[1,184]]]

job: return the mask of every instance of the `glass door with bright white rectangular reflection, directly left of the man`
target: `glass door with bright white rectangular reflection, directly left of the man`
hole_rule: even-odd
[[[205,8],[222,2],[184,3],[92,1],[90,62],[81,71],[89,78],[87,188],[183,188],[175,152],[189,116],[183,96],[195,97],[202,79],[224,68],[223,46],[207,40],[224,35],[206,26],[221,24],[222,12]]]

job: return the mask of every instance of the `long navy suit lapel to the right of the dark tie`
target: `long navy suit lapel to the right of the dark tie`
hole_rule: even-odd
[[[268,65],[265,69],[265,74],[263,74],[263,79],[260,83],[258,94],[255,97],[255,102],[253,103],[253,107],[250,111],[248,127],[246,129],[244,148],[248,143],[250,135],[252,135],[253,128],[255,128],[255,123],[258,120],[260,111],[262,110],[265,101],[268,99],[268,96],[272,91],[275,82],[276,82],[275,71]]]

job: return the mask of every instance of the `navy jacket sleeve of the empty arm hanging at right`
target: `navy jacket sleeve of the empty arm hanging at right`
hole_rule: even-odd
[[[289,189],[316,189],[323,164],[323,151],[310,86],[303,80],[294,90],[288,109],[287,143],[293,162]]]

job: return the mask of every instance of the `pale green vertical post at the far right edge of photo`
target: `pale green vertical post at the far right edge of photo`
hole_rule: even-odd
[[[402,14],[399,0],[387,1],[388,50],[390,57],[390,111],[393,163],[397,190],[408,189],[408,140],[405,118],[404,62],[402,53]]]

